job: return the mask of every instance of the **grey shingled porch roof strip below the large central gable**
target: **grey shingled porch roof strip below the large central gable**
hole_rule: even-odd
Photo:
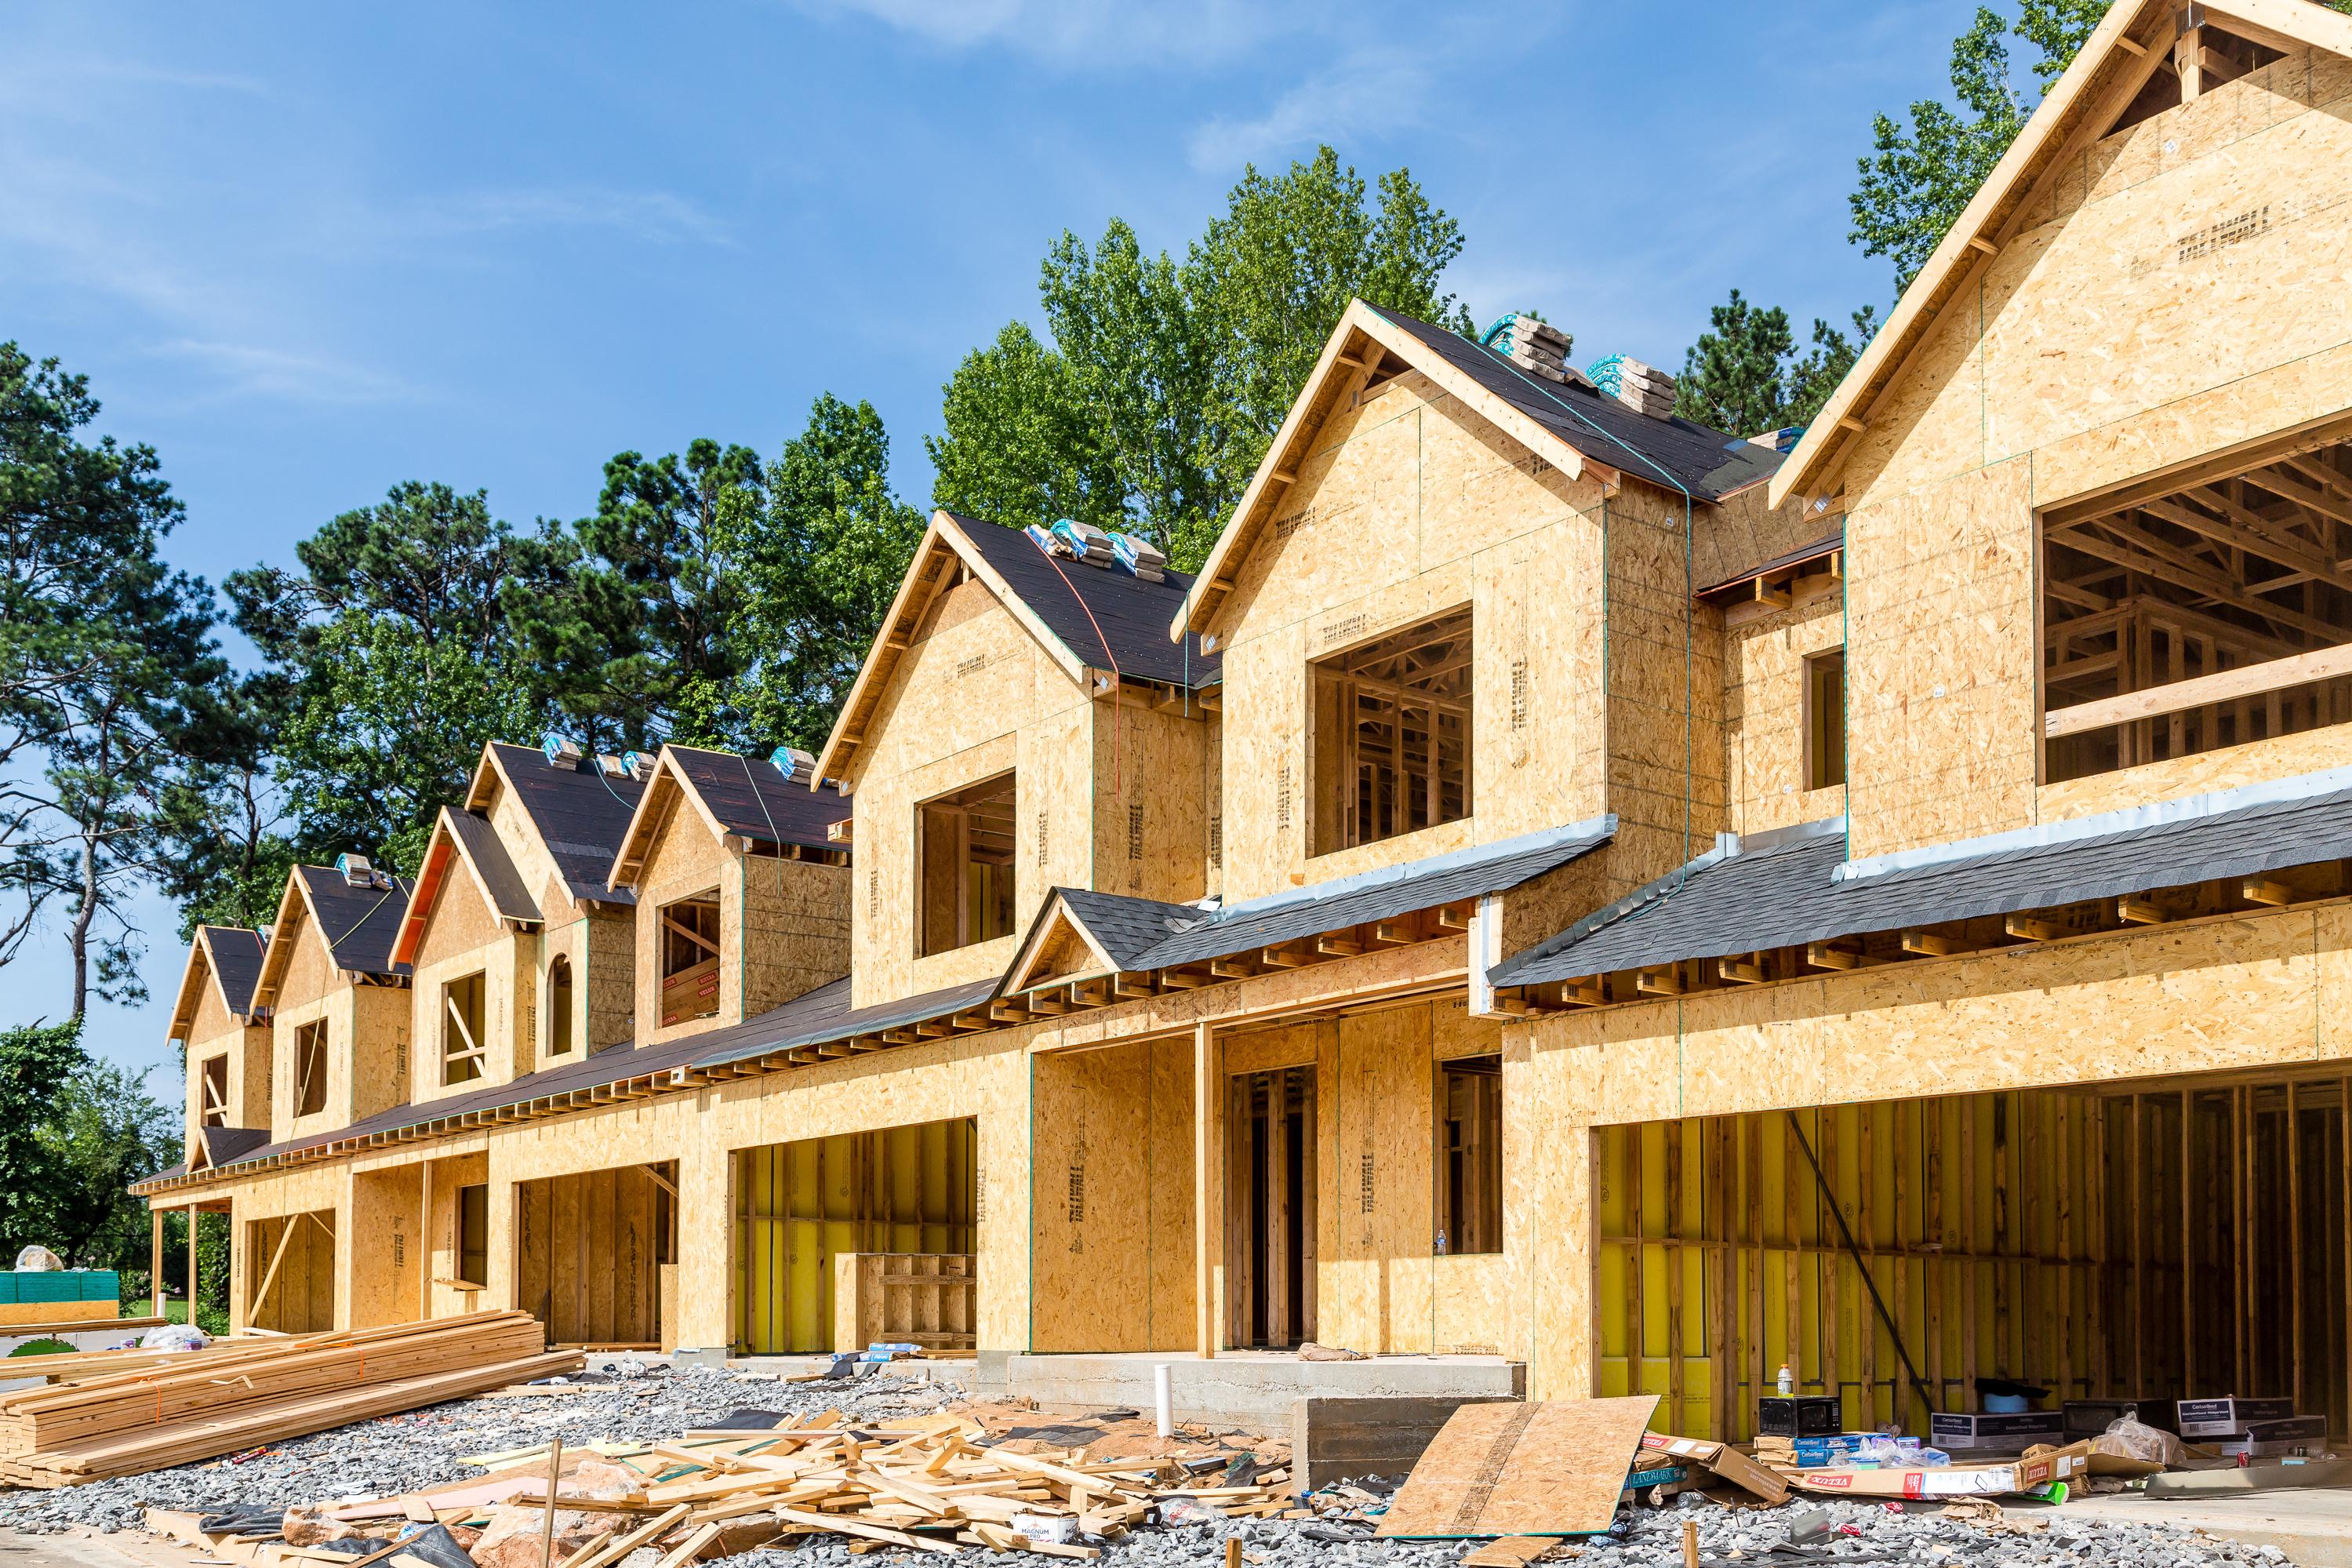
[[[1070,903],[1073,917],[1103,943],[1120,969],[1174,969],[1296,943],[1374,919],[1395,919],[1414,910],[1435,910],[1482,893],[1503,893],[1599,849],[1613,832],[1616,818],[1604,816],[1501,844],[1456,849],[1357,877],[1317,882],[1209,912],[1117,893],[1058,891]],[[1155,926],[1171,929],[1160,940],[1141,945],[1138,938]]]

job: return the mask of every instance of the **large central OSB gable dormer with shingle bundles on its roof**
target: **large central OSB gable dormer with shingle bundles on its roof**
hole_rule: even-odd
[[[1223,818],[1254,827],[1228,903],[1616,818],[1559,875],[1590,907],[1722,827],[1722,623],[1691,588],[1799,543],[1764,508],[1780,454],[1534,331],[1352,303],[1174,616],[1225,665]],[[1550,898],[1515,896],[1529,936]]]

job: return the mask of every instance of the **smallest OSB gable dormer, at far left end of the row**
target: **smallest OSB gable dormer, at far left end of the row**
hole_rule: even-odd
[[[266,943],[242,926],[198,926],[172,1001],[172,1039],[188,1063],[183,1154],[219,1164],[228,1143],[268,1140],[270,1020],[254,1006]]]

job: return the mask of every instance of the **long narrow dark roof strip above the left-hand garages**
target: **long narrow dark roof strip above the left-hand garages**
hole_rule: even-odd
[[[974,980],[971,985],[955,985],[922,997],[908,997],[906,1001],[851,1009],[849,980],[833,980],[830,985],[818,985],[804,997],[795,997],[779,1009],[724,1030],[689,1034],[687,1039],[673,1039],[659,1046],[612,1046],[609,1051],[597,1051],[583,1060],[543,1067],[510,1084],[473,1088],[440,1100],[393,1105],[374,1117],[362,1117],[350,1126],[334,1128],[332,1133],[310,1133],[308,1138],[287,1138],[285,1143],[245,1150],[235,1157],[235,1164],[252,1164],[278,1154],[299,1154],[329,1143],[374,1138],[376,1133],[397,1133],[400,1128],[423,1126],[445,1117],[527,1105],[532,1100],[574,1093],[581,1088],[602,1088],[604,1084],[621,1084],[626,1079],[668,1072],[670,1067],[717,1067],[722,1063],[767,1056],[771,1051],[788,1051],[793,1046],[814,1046],[828,1039],[847,1039],[851,1034],[873,1034],[877,1030],[927,1023],[931,1018],[946,1018],[948,1013],[960,1013],[969,1006],[988,1001],[995,987],[995,980]],[[186,1168],[174,1166],[172,1171],[158,1171],[148,1180],[165,1180],[169,1175],[186,1175]]]

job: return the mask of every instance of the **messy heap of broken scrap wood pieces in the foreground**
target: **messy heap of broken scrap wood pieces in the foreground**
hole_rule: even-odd
[[[856,1427],[823,1410],[790,1427],[689,1432],[652,1448],[548,1443],[485,1455],[494,1465],[485,1479],[374,1502],[282,1516],[158,1509],[148,1526],[256,1568],[379,1556],[388,1568],[447,1568],[452,1552],[480,1568],[612,1568],[640,1547],[680,1568],[807,1535],[849,1537],[851,1552],[1096,1559],[1127,1530],[1188,1509],[1312,1516],[1289,1495],[1287,1469],[1232,1481],[1225,1462],[1204,1474],[1160,1458],[1089,1462],[1077,1450],[1011,1453],[981,1443],[985,1434],[967,1415]]]

